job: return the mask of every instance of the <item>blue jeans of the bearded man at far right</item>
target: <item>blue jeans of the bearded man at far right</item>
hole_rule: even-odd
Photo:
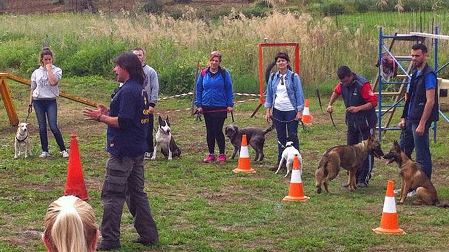
[[[416,150],[416,162],[421,170],[429,177],[432,175],[432,157],[430,156],[429,128],[432,122],[427,122],[423,135],[416,135],[416,127],[419,123],[406,122],[401,132],[399,145],[401,149],[411,158],[413,149]]]

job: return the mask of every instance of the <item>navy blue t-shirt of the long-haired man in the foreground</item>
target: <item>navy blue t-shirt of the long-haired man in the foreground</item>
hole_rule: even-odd
[[[137,79],[124,82],[111,101],[109,116],[130,123],[120,125],[126,128],[108,126],[109,153],[119,157],[137,157],[147,150],[148,107],[148,96],[142,83]]]

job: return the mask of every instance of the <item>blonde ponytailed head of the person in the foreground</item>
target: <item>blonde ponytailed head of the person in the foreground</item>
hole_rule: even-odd
[[[42,240],[50,252],[95,251],[98,226],[92,207],[74,196],[52,202],[45,214]]]

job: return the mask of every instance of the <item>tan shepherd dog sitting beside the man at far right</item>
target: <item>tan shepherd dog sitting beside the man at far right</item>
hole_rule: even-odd
[[[413,205],[436,205],[438,207],[449,207],[448,204],[440,204],[437,191],[429,177],[421,171],[418,163],[411,160],[405,152],[401,150],[399,144],[394,141],[390,152],[385,154],[388,163],[396,162],[399,166],[399,176],[402,178],[401,199],[398,204],[403,204],[409,190],[416,190],[418,200]]]

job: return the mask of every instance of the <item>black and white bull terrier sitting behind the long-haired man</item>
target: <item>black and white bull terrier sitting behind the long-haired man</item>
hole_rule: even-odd
[[[158,131],[156,132],[156,144],[153,151],[153,156],[151,157],[151,160],[156,159],[156,153],[158,151],[158,146],[161,147],[161,152],[164,154],[164,156],[171,160],[173,157],[181,157],[181,150],[179,147],[174,143],[174,138],[171,135],[171,129],[170,129],[170,121],[168,120],[168,116],[165,120],[159,116],[158,118]]]

